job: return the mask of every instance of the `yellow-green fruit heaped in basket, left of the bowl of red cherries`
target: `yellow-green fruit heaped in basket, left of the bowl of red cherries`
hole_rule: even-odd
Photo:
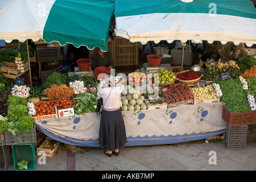
[[[158,82],[159,84],[167,84],[176,79],[174,72],[168,71],[167,69],[161,69],[157,72],[158,76],[154,77],[154,82]]]

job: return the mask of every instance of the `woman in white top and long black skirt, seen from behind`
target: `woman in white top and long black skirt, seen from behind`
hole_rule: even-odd
[[[104,154],[109,157],[112,152],[119,154],[119,147],[125,147],[127,143],[125,122],[120,110],[119,97],[125,86],[115,84],[115,78],[108,76],[106,83],[108,87],[102,88],[99,98],[103,99],[103,110],[101,113],[99,143],[101,147],[106,147]]]

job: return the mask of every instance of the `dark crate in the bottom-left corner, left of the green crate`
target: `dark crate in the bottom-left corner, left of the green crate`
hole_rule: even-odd
[[[11,163],[11,146],[0,146],[0,170],[6,170]]]

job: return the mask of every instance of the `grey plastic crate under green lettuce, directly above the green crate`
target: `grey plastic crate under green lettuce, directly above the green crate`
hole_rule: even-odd
[[[22,143],[35,143],[36,142],[36,128],[28,131],[17,132],[14,136],[10,131],[5,131],[5,144],[22,144]]]

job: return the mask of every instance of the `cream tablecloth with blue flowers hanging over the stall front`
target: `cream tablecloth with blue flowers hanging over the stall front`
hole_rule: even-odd
[[[126,146],[188,142],[226,131],[226,123],[221,116],[222,103],[122,111],[122,114],[126,126]],[[36,128],[48,137],[75,146],[100,147],[99,127],[100,116],[96,113],[36,122]]]

